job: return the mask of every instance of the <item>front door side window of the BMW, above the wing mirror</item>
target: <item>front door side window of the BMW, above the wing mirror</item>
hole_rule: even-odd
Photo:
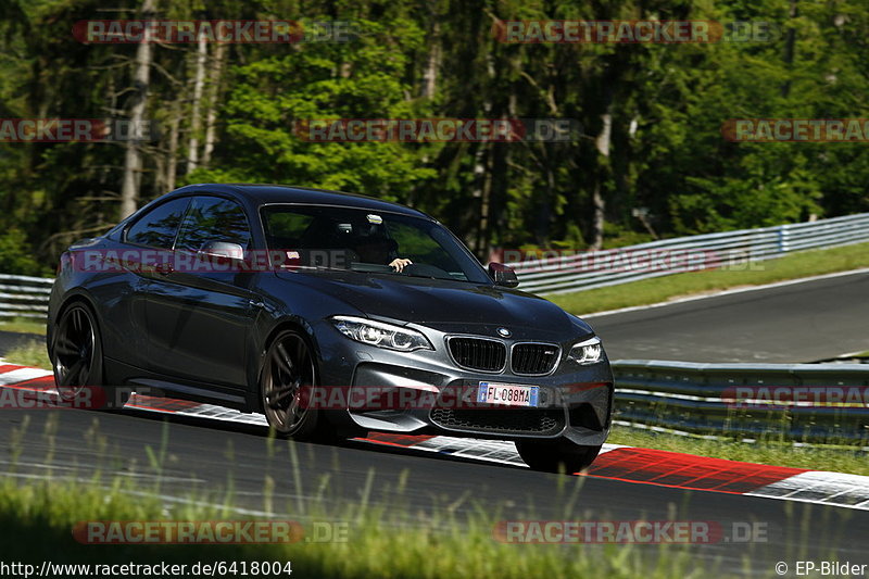
[[[175,249],[196,252],[209,241],[228,241],[250,249],[251,229],[241,205],[217,197],[193,198]]]

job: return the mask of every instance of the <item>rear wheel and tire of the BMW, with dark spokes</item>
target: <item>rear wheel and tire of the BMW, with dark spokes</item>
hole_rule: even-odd
[[[85,303],[74,302],[63,311],[50,351],[54,383],[64,404],[111,410],[123,408],[129,400],[129,389],[103,383],[102,337]]]

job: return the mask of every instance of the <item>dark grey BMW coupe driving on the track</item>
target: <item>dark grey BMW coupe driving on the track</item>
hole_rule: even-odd
[[[483,268],[436,219],[376,199],[191,185],[61,256],[48,350],[64,397],[100,387],[265,414],[295,439],[512,440],[579,470],[613,376],[588,324]]]

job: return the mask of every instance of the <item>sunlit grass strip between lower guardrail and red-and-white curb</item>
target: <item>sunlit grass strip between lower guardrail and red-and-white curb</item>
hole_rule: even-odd
[[[710,440],[618,425],[613,427],[607,442],[728,461],[869,476],[867,452],[858,446],[794,445],[792,442],[772,440],[768,437],[760,437],[755,442]]]

